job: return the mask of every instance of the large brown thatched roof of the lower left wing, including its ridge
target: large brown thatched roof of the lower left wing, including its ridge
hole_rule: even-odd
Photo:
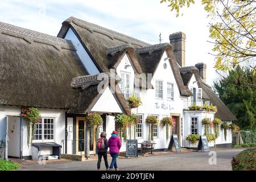
[[[69,40],[0,22],[0,104],[66,109],[87,75]]]

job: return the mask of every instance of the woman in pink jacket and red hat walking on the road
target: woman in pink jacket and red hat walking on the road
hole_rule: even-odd
[[[117,156],[119,154],[119,150],[122,146],[122,142],[120,138],[117,136],[117,131],[113,131],[111,137],[108,141],[109,153],[112,156],[112,162],[110,164],[109,170],[113,170],[113,166],[115,167],[115,171],[118,171],[117,167]]]

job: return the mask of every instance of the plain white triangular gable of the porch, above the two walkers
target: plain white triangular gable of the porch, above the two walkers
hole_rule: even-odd
[[[122,113],[121,107],[118,105],[109,87],[106,88],[91,111],[104,113]]]

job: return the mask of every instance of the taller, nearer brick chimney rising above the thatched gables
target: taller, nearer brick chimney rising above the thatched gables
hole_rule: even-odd
[[[185,39],[186,35],[183,32],[176,32],[169,36],[172,51],[180,67],[185,67]]]

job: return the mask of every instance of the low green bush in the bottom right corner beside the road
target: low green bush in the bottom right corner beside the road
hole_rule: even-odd
[[[256,148],[240,152],[231,164],[233,171],[256,171]]]

